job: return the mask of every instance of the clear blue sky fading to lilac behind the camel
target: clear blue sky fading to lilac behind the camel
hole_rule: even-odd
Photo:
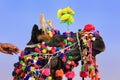
[[[92,23],[105,41],[106,50],[97,56],[102,80],[119,80],[120,0],[0,0],[0,42],[13,43],[23,50],[33,25],[40,25],[41,13],[61,32],[67,31],[57,18],[57,10],[67,6],[75,11],[70,30],[76,32]],[[11,72],[18,56],[0,54],[0,80],[12,80]],[[79,71],[80,67],[75,69],[74,80],[81,80]]]

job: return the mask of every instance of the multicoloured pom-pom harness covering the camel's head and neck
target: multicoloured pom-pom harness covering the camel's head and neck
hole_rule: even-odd
[[[21,52],[21,56],[19,58],[20,61],[14,65],[14,80],[16,80],[16,76],[19,76],[25,80],[52,80],[52,76],[50,74],[50,62],[51,59],[54,59],[56,57],[59,57],[63,62],[67,70],[65,73],[66,77],[68,79],[74,78],[75,73],[72,70],[74,67],[76,67],[76,63],[72,60],[73,57],[70,55],[69,51],[71,50],[71,47],[75,46],[77,43],[81,55],[82,66],[80,76],[82,77],[82,80],[87,77],[90,77],[91,80],[100,80],[97,69],[98,66],[96,65],[96,58],[93,58],[92,56],[92,41],[95,40],[96,31],[87,32],[81,30],[77,32],[77,42],[74,43],[72,43],[73,40],[70,37],[71,34],[73,33],[66,32],[63,34],[63,36],[67,37],[67,40],[64,40],[62,43],[60,43],[61,47],[49,47],[45,42],[43,42],[41,45],[27,45],[26,48],[36,47],[36,52]],[[83,45],[85,48],[82,47]],[[46,51],[46,48],[48,51],[51,51],[52,54],[47,53],[48,51]],[[41,61],[45,58],[49,58],[48,62],[46,65],[41,66]],[[56,77],[62,77],[63,75],[64,72],[62,69],[56,70]]]

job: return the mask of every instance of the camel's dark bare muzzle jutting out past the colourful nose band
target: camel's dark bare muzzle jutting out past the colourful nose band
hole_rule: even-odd
[[[105,44],[100,35],[96,36],[96,40],[93,42],[93,52],[94,55],[99,54],[105,50]]]

